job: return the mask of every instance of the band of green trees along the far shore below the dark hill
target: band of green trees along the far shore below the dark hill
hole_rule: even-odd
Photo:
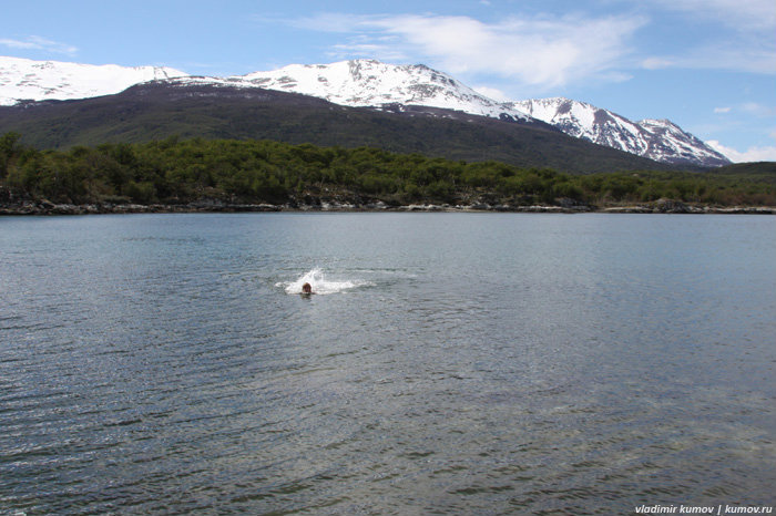
[[[310,200],[632,204],[670,198],[708,205],[776,205],[774,174],[729,171],[569,175],[497,162],[466,163],[370,147],[270,141],[166,140],[38,151],[0,137],[0,188],[16,198],[71,204],[232,204]]]

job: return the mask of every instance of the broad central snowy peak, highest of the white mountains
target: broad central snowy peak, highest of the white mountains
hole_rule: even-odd
[[[488,99],[451,76],[422,64],[395,65],[375,60],[292,64],[270,72],[254,72],[229,79],[356,107],[422,105],[496,118],[508,116],[530,121],[520,110]]]

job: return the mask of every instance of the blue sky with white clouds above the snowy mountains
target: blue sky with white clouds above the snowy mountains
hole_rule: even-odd
[[[734,162],[776,161],[776,0],[25,0],[0,55],[196,75],[377,59],[497,100],[668,118]]]

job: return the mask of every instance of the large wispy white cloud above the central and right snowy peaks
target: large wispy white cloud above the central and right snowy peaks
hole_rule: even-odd
[[[591,78],[626,80],[616,69],[631,53],[630,37],[645,22],[624,16],[513,17],[486,23],[469,17],[325,13],[294,24],[351,34],[335,48],[340,54],[412,55],[453,74],[488,73],[553,87]]]

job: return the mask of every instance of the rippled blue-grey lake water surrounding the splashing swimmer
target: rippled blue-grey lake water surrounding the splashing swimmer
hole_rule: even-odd
[[[0,219],[0,514],[773,505],[776,218]],[[319,295],[288,293],[305,275]]]

